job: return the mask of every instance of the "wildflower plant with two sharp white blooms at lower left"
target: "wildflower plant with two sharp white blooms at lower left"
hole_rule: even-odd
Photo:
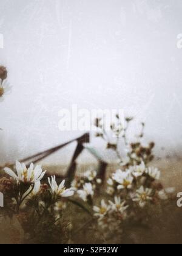
[[[16,216],[29,241],[45,241],[47,230],[52,237],[59,228],[64,230],[61,239],[66,239],[67,223],[62,221],[62,215],[66,209],[66,199],[72,197],[74,191],[65,187],[65,180],[58,185],[56,177],[52,176],[46,183],[41,183],[46,171],[40,165],[34,166],[32,163],[27,168],[18,161],[15,171],[4,168],[4,172],[7,177],[0,179],[0,190],[5,196],[2,212],[10,218]]]

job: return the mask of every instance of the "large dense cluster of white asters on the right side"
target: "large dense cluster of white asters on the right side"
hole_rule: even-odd
[[[163,189],[160,183],[160,171],[147,167],[144,162],[118,169],[107,180],[107,194],[113,198],[106,203],[102,200],[100,206],[94,206],[94,216],[104,234],[117,233],[122,235],[124,225],[128,221],[137,221],[138,212],[144,207],[160,200],[167,200],[169,191]],[[174,190],[169,189],[170,193]]]

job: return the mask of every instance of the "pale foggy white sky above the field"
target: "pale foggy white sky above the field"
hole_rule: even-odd
[[[181,0],[5,0],[0,10],[12,86],[0,104],[1,162],[81,135],[58,129],[59,110],[73,104],[123,108],[134,132],[146,122],[158,153],[181,149]]]

